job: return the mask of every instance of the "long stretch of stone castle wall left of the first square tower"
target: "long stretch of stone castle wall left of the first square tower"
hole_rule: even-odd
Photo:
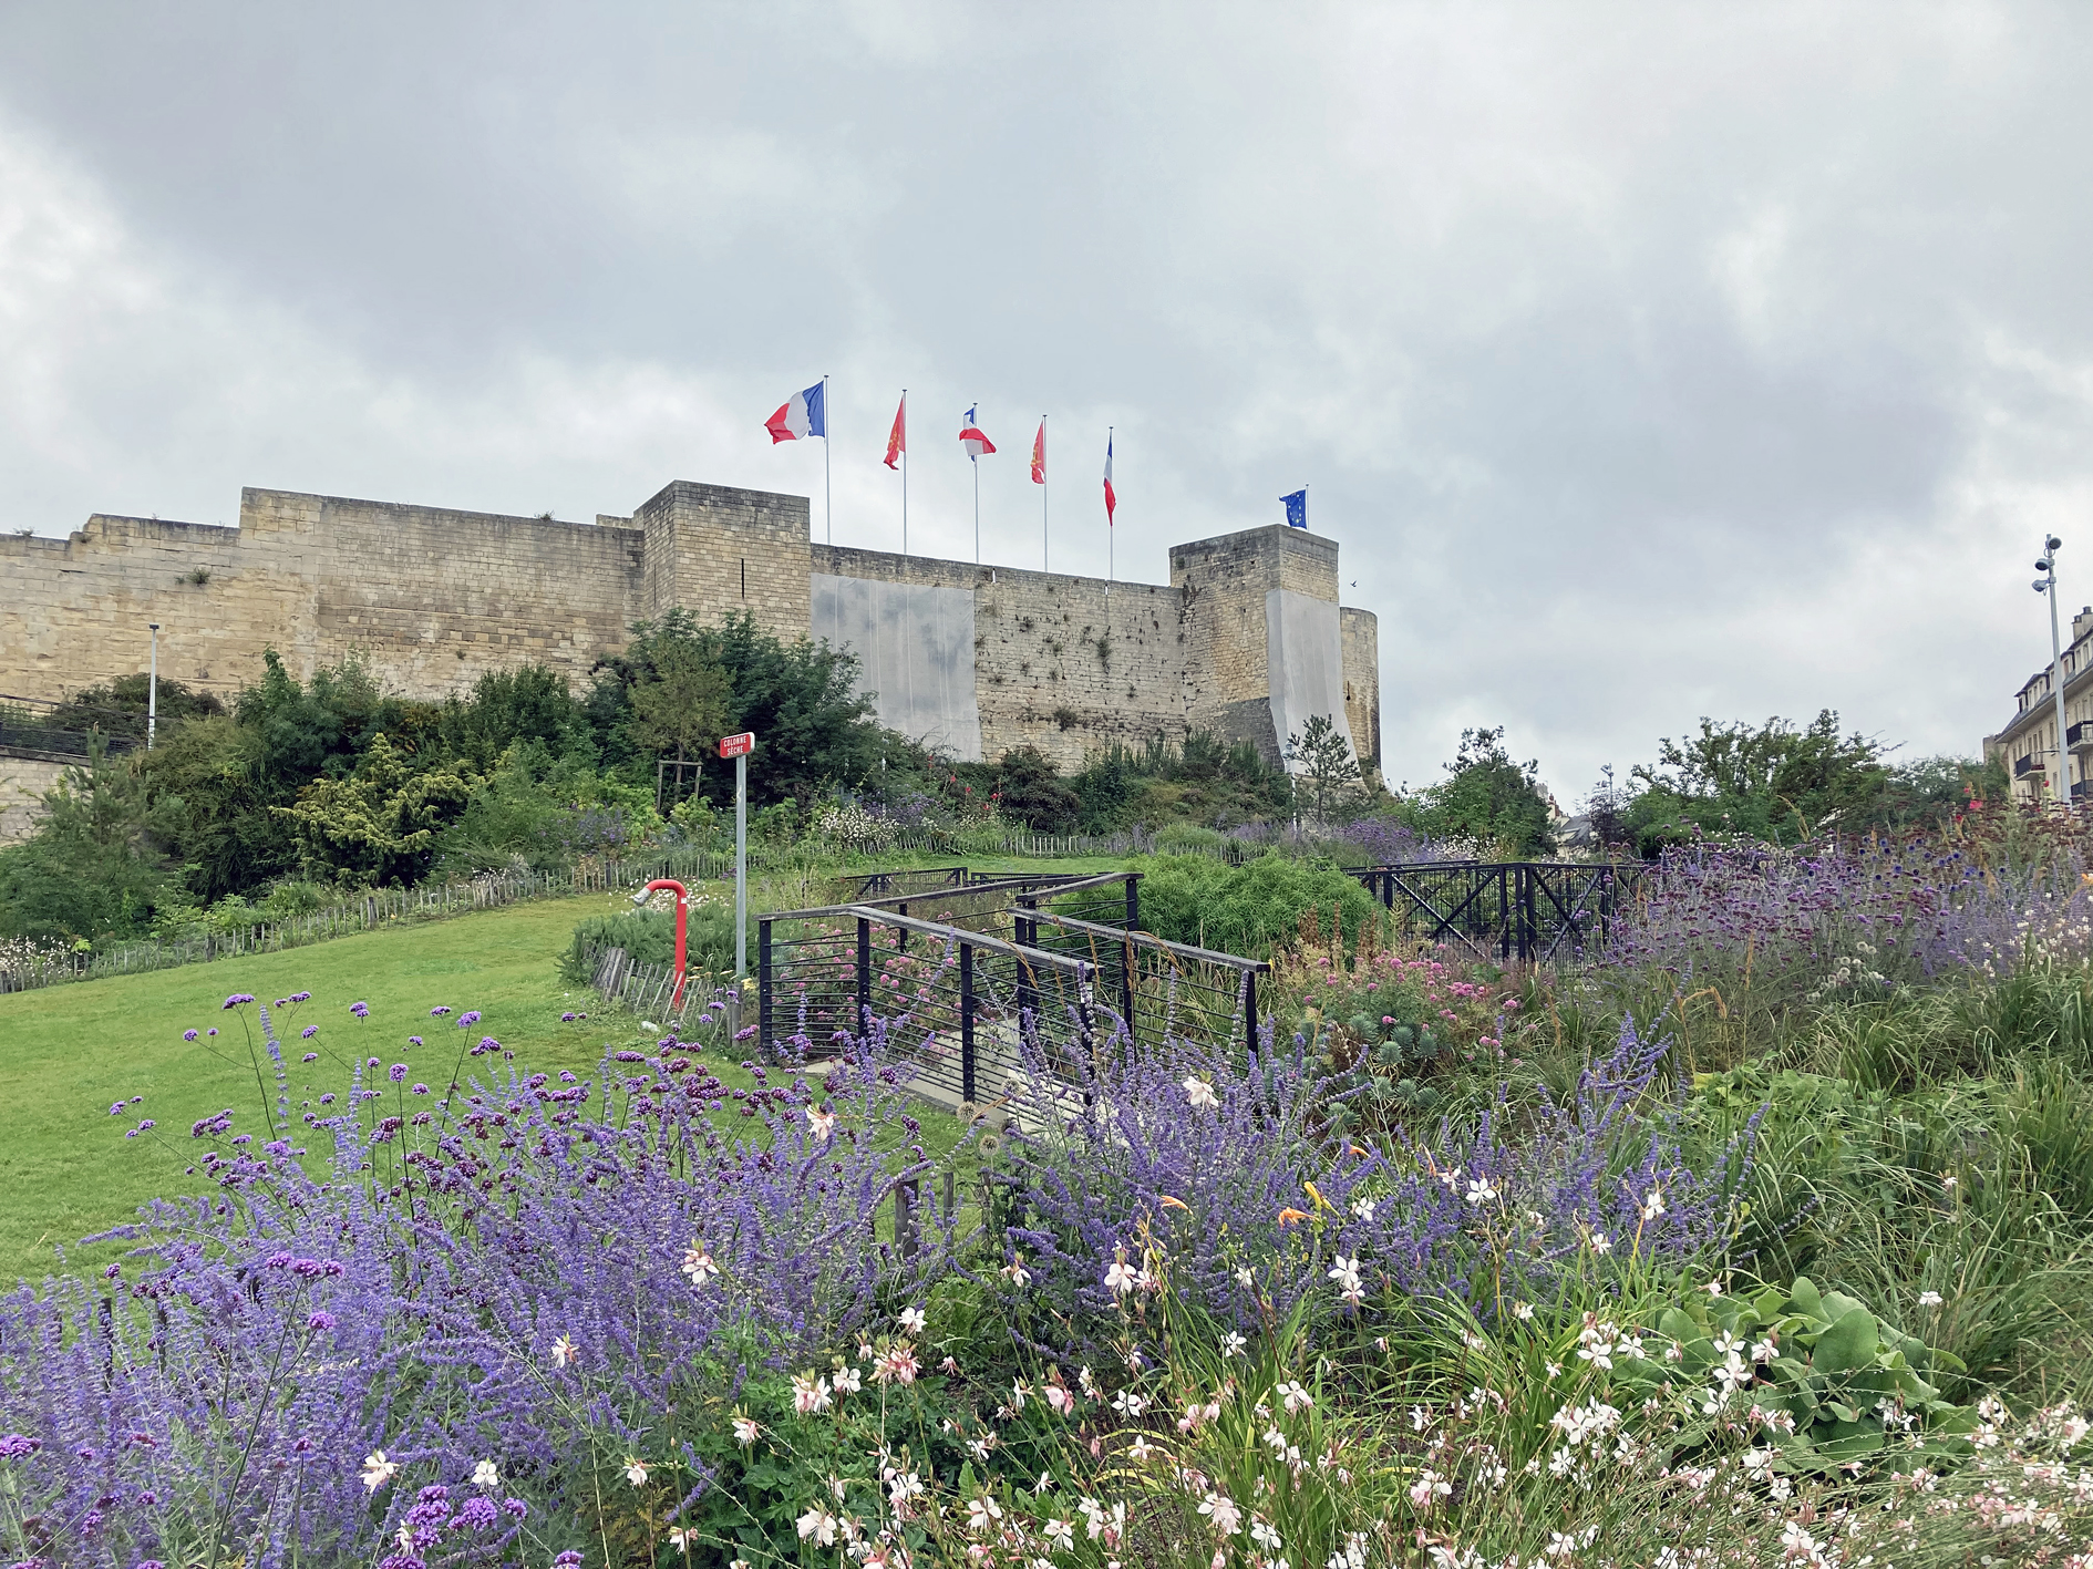
[[[147,667],[230,692],[274,646],[303,680],[364,653],[408,697],[538,661],[582,680],[643,609],[640,529],[241,492],[237,529],[90,517],[0,536],[0,692],[59,699]]]

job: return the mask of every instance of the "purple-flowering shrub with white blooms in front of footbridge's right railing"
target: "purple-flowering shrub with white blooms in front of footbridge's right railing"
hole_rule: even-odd
[[[1576,1096],[1517,1136],[1499,1105],[1473,1130],[1388,1149],[1331,1130],[1300,1038],[1266,1036],[1245,1069],[1220,1050],[1122,1044],[1080,1096],[1034,1065],[1019,1117],[1040,1132],[1009,1163],[1028,1215],[1009,1241],[1053,1322],[1095,1324],[1168,1280],[1239,1331],[1287,1318],[1329,1280],[1352,1314],[1425,1293],[1490,1320],[1507,1293],[1710,1257],[1746,1161],[1695,1174],[1662,1125],[1637,1121],[1662,1052],[1624,1023]]]

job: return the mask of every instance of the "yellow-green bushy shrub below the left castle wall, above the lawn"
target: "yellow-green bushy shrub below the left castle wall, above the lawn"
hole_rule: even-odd
[[[297,805],[276,812],[297,833],[306,864],[350,883],[412,883],[435,854],[435,837],[479,787],[454,766],[421,774],[383,732],[350,778],[320,778]]]

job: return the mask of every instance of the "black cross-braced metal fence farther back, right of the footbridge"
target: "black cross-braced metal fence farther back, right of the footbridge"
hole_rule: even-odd
[[[1637,866],[1612,862],[1423,862],[1369,866],[1367,889],[1419,941],[1461,943],[1478,956],[1582,958],[1605,946]]]

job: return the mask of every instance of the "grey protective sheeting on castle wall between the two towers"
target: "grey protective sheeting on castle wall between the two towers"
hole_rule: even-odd
[[[810,588],[814,638],[856,651],[858,686],[873,692],[879,722],[961,761],[982,761],[973,590],[823,571]]]

